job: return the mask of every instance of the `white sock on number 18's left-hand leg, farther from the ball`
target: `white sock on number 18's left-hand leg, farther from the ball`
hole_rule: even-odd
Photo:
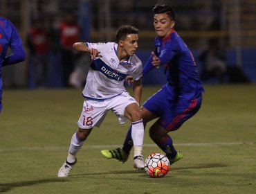
[[[77,155],[77,152],[82,148],[82,145],[84,144],[84,141],[80,141],[77,139],[77,134],[73,134],[71,138],[71,145],[69,146],[68,150],[68,157],[66,158],[66,161],[68,163],[74,163],[75,162],[75,156]]]

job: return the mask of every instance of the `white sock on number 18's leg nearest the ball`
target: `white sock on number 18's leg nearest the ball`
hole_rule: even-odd
[[[131,138],[134,142],[134,157],[142,155],[144,139],[143,119],[131,123]]]

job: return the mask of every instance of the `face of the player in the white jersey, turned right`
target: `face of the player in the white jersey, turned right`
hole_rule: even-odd
[[[127,35],[125,40],[122,41],[122,48],[124,49],[127,55],[132,56],[138,48],[138,35],[130,34]]]

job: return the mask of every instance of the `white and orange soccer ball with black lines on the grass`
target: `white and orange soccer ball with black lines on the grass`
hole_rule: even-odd
[[[144,169],[152,178],[161,178],[170,170],[170,161],[160,153],[152,153],[145,159]]]

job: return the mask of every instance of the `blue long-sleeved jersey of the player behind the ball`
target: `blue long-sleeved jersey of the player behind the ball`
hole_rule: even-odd
[[[204,89],[199,80],[194,57],[178,33],[172,30],[164,39],[156,37],[155,46],[156,56],[161,60],[161,65],[165,65],[168,98],[193,99],[201,95]]]

